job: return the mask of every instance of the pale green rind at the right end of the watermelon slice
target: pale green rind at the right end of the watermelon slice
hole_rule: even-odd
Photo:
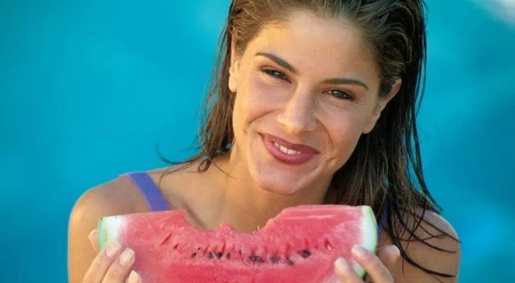
[[[361,212],[363,215],[361,220],[361,225],[363,225],[363,237],[361,238],[361,243],[359,243],[359,245],[366,248],[366,250],[371,251],[371,253],[376,253],[378,243],[376,215],[374,214],[374,210],[369,206],[361,207]],[[357,263],[354,264],[354,272],[356,272],[356,274],[361,278],[366,276],[364,268]]]

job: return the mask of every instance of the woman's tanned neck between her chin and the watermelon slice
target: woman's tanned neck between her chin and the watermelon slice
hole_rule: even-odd
[[[255,231],[287,207],[323,202],[328,185],[306,187],[293,195],[279,195],[259,187],[250,178],[247,166],[237,159],[241,160],[231,154],[220,158],[213,167],[218,172],[216,181],[221,188],[219,209],[215,209],[219,215],[212,215],[216,225],[226,222],[236,231]]]

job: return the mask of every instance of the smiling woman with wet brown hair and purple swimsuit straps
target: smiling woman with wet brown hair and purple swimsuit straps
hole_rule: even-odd
[[[199,154],[81,196],[69,224],[70,282],[129,276],[132,250],[91,248],[101,216],[186,209],[201,229],[225,221],[253,231],[285,207],[323,203],[370,205],[382,219],[377,255],[354,249],[367,280],[456,282],[459,242],[424,183],[417,139],[423,6],[233,0]],[[345,260],[335,272],[362,282]]]

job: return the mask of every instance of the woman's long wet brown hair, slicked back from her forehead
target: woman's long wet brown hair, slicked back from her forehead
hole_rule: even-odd
[[[416,122],[424,90],[424,10],[423,0],[233,0],[205,101],[198,153],[183,164],[200,161],[198,171],[207,171],[214,158],[231,150],[235,96],[228,88],[228,76],[232,44],[238,54],[243,53],[265,25],[286,22],[295,11],[351,23],[360,30],[375,59],[381,79],[378,96],[387,96],[396,79],[402,79],[402,85],[374,129],[361,135],[352,156],[335,173],[325,202],[369,205],[378,218],[386,212],[385,231],[400,248],[403,260],[435,277],[455,277],[422,267],[400,244],[418,241],[437,250],[455,252],[432,246],[428,238],[419,238],[415,233],[425,221],[424,212],[441,212],[424,181]],[[414,218],[415,223],[408,223],[407,217]]]

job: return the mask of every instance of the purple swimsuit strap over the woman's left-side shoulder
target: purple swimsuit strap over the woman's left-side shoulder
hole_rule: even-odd
[[[154,180],[152,180],[148,173],[131,172],[124,175],[127,175],[139,189],[151,212],[170,209],[168,202],[166,202],[163,194],[161,194],[161,190],[159,190],[159,187],[154,183]]]

